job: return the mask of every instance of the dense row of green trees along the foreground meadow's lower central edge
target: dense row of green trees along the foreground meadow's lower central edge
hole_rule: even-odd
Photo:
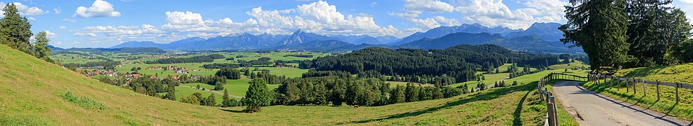
[[[408,84],[391,89],[390,83],[378,78],[325,76],[292,78],[277,88],[281,97],[276,104],[382,106],[402,102],[454,97],[464,91],[454,87]]]

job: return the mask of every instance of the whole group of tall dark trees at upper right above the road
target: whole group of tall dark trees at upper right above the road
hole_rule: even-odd
[[[581,46],[593,70],[693,62],[691,25],[671,0],[571,0],[563,43]],[[589,15],[586,15],[589,14]]]

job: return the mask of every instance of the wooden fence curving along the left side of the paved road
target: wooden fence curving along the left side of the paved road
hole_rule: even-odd
[[[554,79],[587,81],[587,77],[575,76],[566,73],[549,73],[549,75],[540,78],[537,90],[539,90],[539,96],[541,99],[546,102],[547,111],[544,125],[549,126],[559,125],[558,109],[556,109],[556,98],[554,97],[554,94],[546,87],[548,82]]]

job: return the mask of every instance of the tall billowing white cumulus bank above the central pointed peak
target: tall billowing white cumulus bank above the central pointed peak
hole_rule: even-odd
[[[375,24],[372,15],[344,15],[337,11],[337,6],[326,1],[302,4],[286,10],[264,10],[262,6],[252,8],[246,15],[251,16],[244,22],[235,22],[231,18],[203,20],[200,13],[167,12],[167,24],[163,29],[168,31],[197,31],[211,35],[248,32],[254,34],[290,34],[296,29],[303,29],[318,34],[369,34],[372,36],[399,35],[394,27],[380,27]],[[293,16],[292,16],[293,15]]]

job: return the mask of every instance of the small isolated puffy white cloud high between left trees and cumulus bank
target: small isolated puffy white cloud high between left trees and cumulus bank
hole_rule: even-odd
[[[80,18],[120,17],[120,12],[116,11],[111,3],[103,0],[96,0],[92,3],[92,6],[88,8],[79,6],[77,10],[75,10],[74,15]]]

